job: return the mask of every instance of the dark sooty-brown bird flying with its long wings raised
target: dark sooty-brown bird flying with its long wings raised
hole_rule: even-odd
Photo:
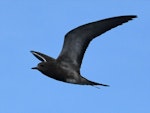
[[[39,70],[50,78],[66,83],[109,86],[88,80],[81,75],[80,68],[84,53],[94,38],[136,17],[136,15],[116,16],[81,25],[65,35],[62,50],[57,58],[31,51],[41,61],[32,69]]]

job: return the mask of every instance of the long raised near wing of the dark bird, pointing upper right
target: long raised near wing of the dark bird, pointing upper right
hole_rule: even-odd
[[[135,15],[118,16],[79,26],[65,36],[64,45],[57,60],[80,69],[82,59],[90,41],[102,33],[117,27],[129,20],[136,18]]]

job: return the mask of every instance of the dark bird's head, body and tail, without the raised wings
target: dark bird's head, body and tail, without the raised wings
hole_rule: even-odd
[[[31,52],[34,55],[42,54],[40,52],[35,52],[35,51],[31,51]],[[80,71],[76,71],[72,68],[71,65],[68,65],[67,63],[61,63],[56,59],[47,62],[41,62],[38,64],[37,67],[34,67],[32,69],[38,69],[41,73],[45,74],[46,76],[63,82],[81,84],[81,85],[94,84],[94,85],[105,86],[105,84],[100,84],[100,83],[87,80],[86,78],[80,75]]]

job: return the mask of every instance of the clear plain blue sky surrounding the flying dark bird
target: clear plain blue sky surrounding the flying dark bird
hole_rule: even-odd
[[[109,84],[58,82],[31,70],[39,63],[30,50],[54,58],[64,35],[92,21],[138,18],[97,37],[81,73]],[[1,0],[0,113],[150,113],[150,1]]]

